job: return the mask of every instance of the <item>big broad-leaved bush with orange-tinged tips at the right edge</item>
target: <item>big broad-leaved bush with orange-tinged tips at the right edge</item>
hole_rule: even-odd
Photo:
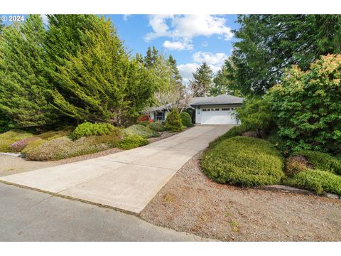
[[[341,55],[325,55],[310,69],[297,65],[269,91],[278,136],[288,149],[340,154]]]

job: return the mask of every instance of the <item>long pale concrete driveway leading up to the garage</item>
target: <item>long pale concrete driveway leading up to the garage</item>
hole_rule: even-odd
[[[186,161],[231,127],[199,125],[147,146],[0,181],[140,213]]]

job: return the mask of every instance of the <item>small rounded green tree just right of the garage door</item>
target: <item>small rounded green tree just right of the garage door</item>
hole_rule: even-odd
[[[274,124],[269,101],[259,97],[245,100],[242,107],[237,108],[237,118],[245,129],[256,132],[259,138]]]

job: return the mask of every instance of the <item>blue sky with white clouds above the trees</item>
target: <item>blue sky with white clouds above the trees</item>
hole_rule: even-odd
[[[7,19],[9,15],[6,15]],[[185,83],[203,61],[215,72],[219,70],[232,52],[235,38],[231,31],[239,27],[235,23],[237,15],[104,16],[112,20],[132,55],[145,55],[148,46],[156,46],[165,55],[172,54]],[[46,23],[46,16],[42,15],[42,18]],[[8,20],[6,24],[9,24]]]

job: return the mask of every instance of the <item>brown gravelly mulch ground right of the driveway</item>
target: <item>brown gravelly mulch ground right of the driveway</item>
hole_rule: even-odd
[[[340,241],[341,201],[218,184],[188,161],[141,212],[155,225],[224,241]]]

